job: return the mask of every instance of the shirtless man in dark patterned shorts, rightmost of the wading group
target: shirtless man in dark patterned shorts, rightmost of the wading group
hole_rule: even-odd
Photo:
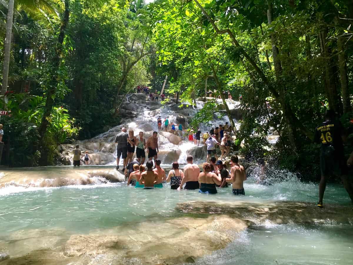
[[[228,183],[233,183],[233,194],[234,195],[245,195],[243,182],[246,180],[246,173],[243,166],[238,164],[237,155],[231,157],[231,177],[226,178]]]

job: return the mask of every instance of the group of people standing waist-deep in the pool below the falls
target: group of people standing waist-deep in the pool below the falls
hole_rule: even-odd
[[[238,164],[238,157],[232,156],[231,170],[226,169],[226,165],[221,160],[216,161],[212,157],[210,163],[203,164],[203,171],[197,164],[193,163],[191,155],[186,158],[187,164],[183,169],[179,168],[179,163],[174,162],[172,169],[166,174],[161,167],[161,160],[149,160],[146,166],[140,164],[137,159],[127,165],[125,176],[127,185],[135,188],[154,189],[163,188],[164,183],[170,183],[170,189],[199,190],[200,193],[216,194],[216,187],[227,188],[228,183],[232,183],[232,193],[234,195],[245,195],[244,181],[246,173],[243,166]]]

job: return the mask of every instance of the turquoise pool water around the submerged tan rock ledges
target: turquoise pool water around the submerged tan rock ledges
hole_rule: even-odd
[[[54,172],[50,168],[42,170],[48,175]],[[72,174],[72,171],[72,168],[56,169],[55,174],[65,176],[69,172]],[[29,177],[28,171],[26,174],[26,177]],[[244,188],[246,196],[233,196],[230,187],[218,189],[219,193],[216,195],[205,195],[196,190],[180,192],[170,190],[169,185],[154,190],[136,189],[127,187],[125,182],[59,188],[2,188],[0,252],[5,248],[5,252],[13,257],[36,249],[35,246],[28,247],[28,243],[23,248],[17,245],[15,247],[8,241],[8,238],[18,238],[19,235],[25,235],[25,240],[28,240],[33,231],[42,231],[40,233],[63,231],[60,240],[65,241],[74,234],[89,234],[92,231],[103,233],[116,227],[131,228],[144,222],[160,223],[164,222],[163,220],[183,217],[186,214],[175,210],[179,202],[250,201],[263,204],[270,200],[316,202],[318,193],[317,185],[301,183],[295,178],[271,186],[262,186],[256,184],[254,179],[248,179]],[[328,185],[324,199],[325,203],[349,204],[348,195],[341,185]],[[46,244],[44,245],[47,246]],[[238,238],[225,249],[198,258],[196,262],[197,264],[352,264],[352,251],[353,232],[350,225],[276,225],[269,222],[268,225],[251,226],[240,232]]]

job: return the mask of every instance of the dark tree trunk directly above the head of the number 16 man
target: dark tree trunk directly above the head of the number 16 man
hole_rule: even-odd
[[[337,86],[335,80],[335,62],[333,60],[333,55],[331,49],[326,44],[327,38],[327,27],[321,27],[320,29],[320,45],[321,45],[321,56],[323,57],[323,61],[325,62],[325,70],[324,70],[324,81],[326,83],[326,93],[327,99],[329,101],[329,107],[334,112],[341,114],[341,99],[337,93]]]

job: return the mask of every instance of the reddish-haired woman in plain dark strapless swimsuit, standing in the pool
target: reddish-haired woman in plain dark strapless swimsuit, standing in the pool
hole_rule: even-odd
[[[207,194],[216,194],[216,185],[222,183],[222,178],[212,172],[212,166],[209,163],[203,164],[203,172],[198,177],[200,183],[199,192]]]

